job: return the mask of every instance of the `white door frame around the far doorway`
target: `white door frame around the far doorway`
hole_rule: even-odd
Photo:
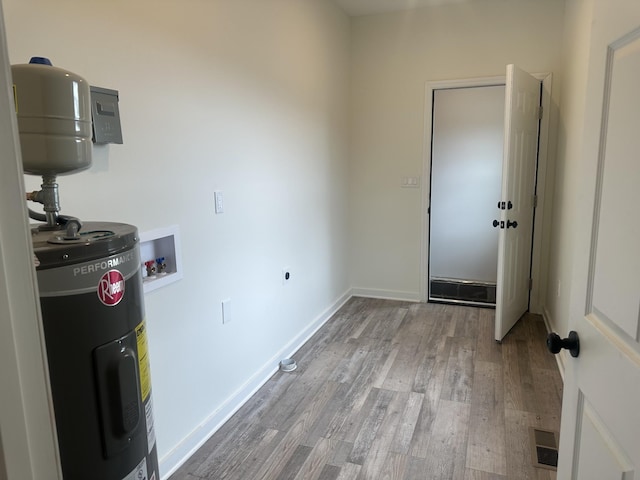
[[[506,68],[506,65],[505,65]],[[529,309],[533,313],[542,313],[544,286],[541,285],[542,278],[542,251],[543,246],[548,243],[549,232],[545,230],[545,193],[548,177],[548,150],[549,150],[549,125],[552,117],[551,111],[551,73],[534,73],[535,78],[542,82],[542,109],[543,115],[540,122],[540,138],[538,146],[538,170],[536,175],[536,194],[538,196],[538,206],[535,211],[533,225],[533,244],[532,244],[532,262],[531,277],[532,286],[529,301]],[[432,112],[433,112],[433,91],[448,88],[469,88],[469,87],[487,87],[491,85],[504,85],[506,83],[506,72],[504,75],[496,75],[491,77],[478,77],[454,80],[429,81],[425,84],[424,96],[424,131],[423,131],[423,147],[422,147],[422,241],[420,242],[420,295],[421,301],[429,301],[429,198],[431,195],[431,182],[427,179],[431,178],[431,144],[432,144]],[[500,192],[496,192],[496,202],[499,200]]]

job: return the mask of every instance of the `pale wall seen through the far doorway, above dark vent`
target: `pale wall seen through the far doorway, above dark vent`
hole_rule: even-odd
[[[504,85],[434,91],[430,277],[495,284]]]

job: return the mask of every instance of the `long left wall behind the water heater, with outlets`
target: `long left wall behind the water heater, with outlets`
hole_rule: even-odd
[[[62,213],[179,225],[184,279],[146,297],[167,473],[346,298],[349,19],[299,0],[4,6],[12,63],[120,93],[124,145],[59,179]]]

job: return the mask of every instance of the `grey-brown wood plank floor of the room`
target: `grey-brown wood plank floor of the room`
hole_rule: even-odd
[[[171,480],[555,479],[529,426],[558,431],[562,380],[526,315],[352,298]]]

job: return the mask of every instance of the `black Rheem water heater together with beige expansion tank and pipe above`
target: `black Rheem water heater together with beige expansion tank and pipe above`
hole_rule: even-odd
[[[65,480],[159,480],[136,227],[59,214],[56,176],[91,165],[89,84],[12,66],[58,447]]]

